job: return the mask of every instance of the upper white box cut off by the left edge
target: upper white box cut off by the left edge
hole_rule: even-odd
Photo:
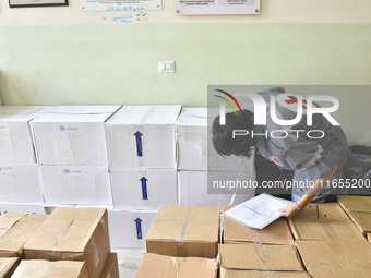
[[[36,114],[0,114],[0,162],[36,164],[29,121]]]

